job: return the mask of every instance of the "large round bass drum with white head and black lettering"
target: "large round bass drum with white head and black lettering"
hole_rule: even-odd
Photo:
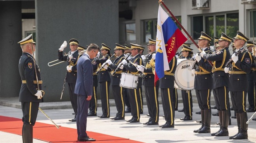
[[[175,71],[175,83],[176,89],[193,90],[195,77],[191,73],[193,60],[190,59],[178,59],[177,67]]]

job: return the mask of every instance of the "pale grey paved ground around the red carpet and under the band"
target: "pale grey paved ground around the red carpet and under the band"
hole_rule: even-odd
[[[19,104],[17,99],[0,99],[1,104],[4,101],[9,100],[9,105],[14,106],[14,104]],[[112,102],[112,101],[111,101]],[[5,104],[7,104],[5,102]],[[50,118],[58,125],[76,128],[75,122],[69,122],[68,119],[73,118],[73,109],[53,109],[58,108],[58,106],[69,107],[69,102],[48,102],[41,104],[44,111],[50,116]],[[179,104],[179,109],[182,109],[182,104]],[[111,106],[111,117],[114,117],[116,114],[116,107]],[[159,128],[157,125],[147,126],[142,123],[147,122],[149,119],[147,114],[147,106],[144,105],[144,114],[141,115],[140,123],[127,123],[124,120],[113,121],[111,119],[100,119],[99,117],[88,117],[87,130],[94,131],[103,134],[109,134],[112,136],[119,136],[123,138],[130,138],[131,140],[142,141],[146,143],[173,143],[173,142],[188,142],[188,143],[205,143],[205,142],[232,142],[232,143],[255,143],[256,142],[256,121],[251,121],[248,129],[248,140],[230,140],[228,136],[226,137],[215,137],[211,136],[210,133],[207,134],[198,134],[193,133],[194,129],[197,129],[201,124],[196,123],[197,120],[201,118],[201,115],[195,114],[199,111],[199,107],[194,103],[193,107],[193,121],[181,121],[180,118],[184,117],[183,112],[175,111],[175,128]],[[212,112],[216,112],[216,109],[213,109]],[[101,115],[101,107],[98,108],[98,115]],[[253,113],[248,113],[248,117],[251,117]],[[22,117],[22,111],[19,108],[0,106],[0,115],[9,116],[9,117]],[[234,115],[234,111],[232,111]],[[160,119],[159,124],[164,124],[163,108],[160,104]],[[125,119],[128,120],[131,118],[130,113],[126,113]],[[37,122],[48,123],[51,122],[39,111]],[[215,132],[219,129],[219,126],[215,123],[218,122],[218,116],[212,116],[211,120],[211,132]],[[232,136],[237,133],[237,122],[236,119],[232,119],[232,125],[228,126],[229,134]],[[92,136],[93,137],[93,136]],[[22,143],[22,137],[15,134],[0,132],[0,143]],[[34,143],[45,143],[44,141],[35,140]]]

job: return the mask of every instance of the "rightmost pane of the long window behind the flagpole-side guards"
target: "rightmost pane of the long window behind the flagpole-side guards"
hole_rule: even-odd
[[[238,13],[227,14],[227,36],[233,38],[239,30]]]

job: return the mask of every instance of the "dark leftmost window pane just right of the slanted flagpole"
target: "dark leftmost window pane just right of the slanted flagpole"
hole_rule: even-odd
[[[201,36],[201,31],[204,31],[203,16],[193,17],[193,39],[198,39]]]

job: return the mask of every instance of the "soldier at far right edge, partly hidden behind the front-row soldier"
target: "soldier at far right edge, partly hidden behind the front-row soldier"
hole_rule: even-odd
[[[252,48],[254,47],[254,43],[252,41],[247,41],[246,48],[248,50],[248,53],[253,56],[252,53]],[[248,102],[249,102],[249,107],[246,110],[246,112],[255,112],[256,111],[256,97],[255,97],[255,91],[254,91],[254,74],[256,72],[255,68],[255,63],[254,63],[254,58],[252,61],[252,66],[251,66],[251,72],[247,73],[247,79],[248,79]]]

